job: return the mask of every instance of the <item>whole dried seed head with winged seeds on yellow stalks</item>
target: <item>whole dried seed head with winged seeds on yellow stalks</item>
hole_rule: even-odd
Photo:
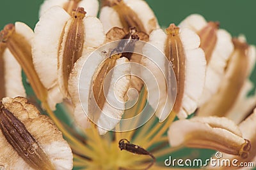
[[[163,30],[143,0],[100,3],[45,0],[34,31],[0,32],[0,169],[168,169],[184,148],[256,164],[255,46],[198,14]]]

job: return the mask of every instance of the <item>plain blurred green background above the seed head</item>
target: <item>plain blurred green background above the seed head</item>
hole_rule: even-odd
[[[21,21],[31,28],[38,22],[38,10],[44,0],[1,0],[0,28]],[[167,27],[171,23],[179,24],[192,13],[204,15],[207,20],[219,21],[220,27],[227,29],[232,36],[244,34],[248,43],[256,45],[256,0],[147,0],[154,10],[159,24]],[[252,80],[256,83],[256,71]],[[182,155],[195,154],[198,150],[181,150]],[[182,153],[183,152],[183,153]],[[185,152],[185,153],[184,153]],[[212,154],[213,152],[210,152]],[[209,155],[197,152],[195,157]]]

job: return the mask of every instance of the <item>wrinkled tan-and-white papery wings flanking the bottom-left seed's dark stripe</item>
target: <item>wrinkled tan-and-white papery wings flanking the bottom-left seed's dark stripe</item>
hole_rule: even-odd
[[[36,107],[29,104],[24,97],[16,97],[14,99],[6,97],[3,99],[3,105],[5,108],[8,108],[8,110],[10,109],[11,113],[25,125],[28,132],[36,140],[36,143],[31,145],[26,152],[28,157],[29,155],[32,157],[33,154],[37,154],[38,147],[40,147],[55,169],[72,169],[72,151],[67,141],[63,139],[61,132],[50,118],[45,115],[40,115]],[[19,131],[22,130],[19,129]],[[5,169],[33,169],[18,155],[16,150],[12,148],[10,143],[8,143],[3,136],[2,131],[0,131],[0,138],[0,146],[4,148],[4,150],[0,152],[0,164],[3,165]],[[12,159],[10,159],[10,157],[12,157]]]

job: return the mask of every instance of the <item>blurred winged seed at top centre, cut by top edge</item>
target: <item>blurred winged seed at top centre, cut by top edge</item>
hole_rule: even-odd
[[[108,6],[103,6],[100,11],[100,20],[104,25],[105,32],[112,27],[124,28],[129,31],[136,27],[139,32],[149,34],[159,28],[157,18],[145,1],[141,0],[106,0]]]

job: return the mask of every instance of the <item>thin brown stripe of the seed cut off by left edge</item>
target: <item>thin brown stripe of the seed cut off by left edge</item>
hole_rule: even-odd
[[[2,83],[2,87],[0,88],[0,99],[6,97],[6,90],[5,90],[5,79],[4,79],[4,59],[3,53],[6,49],[6,45],[0,42],[0,82]]]

